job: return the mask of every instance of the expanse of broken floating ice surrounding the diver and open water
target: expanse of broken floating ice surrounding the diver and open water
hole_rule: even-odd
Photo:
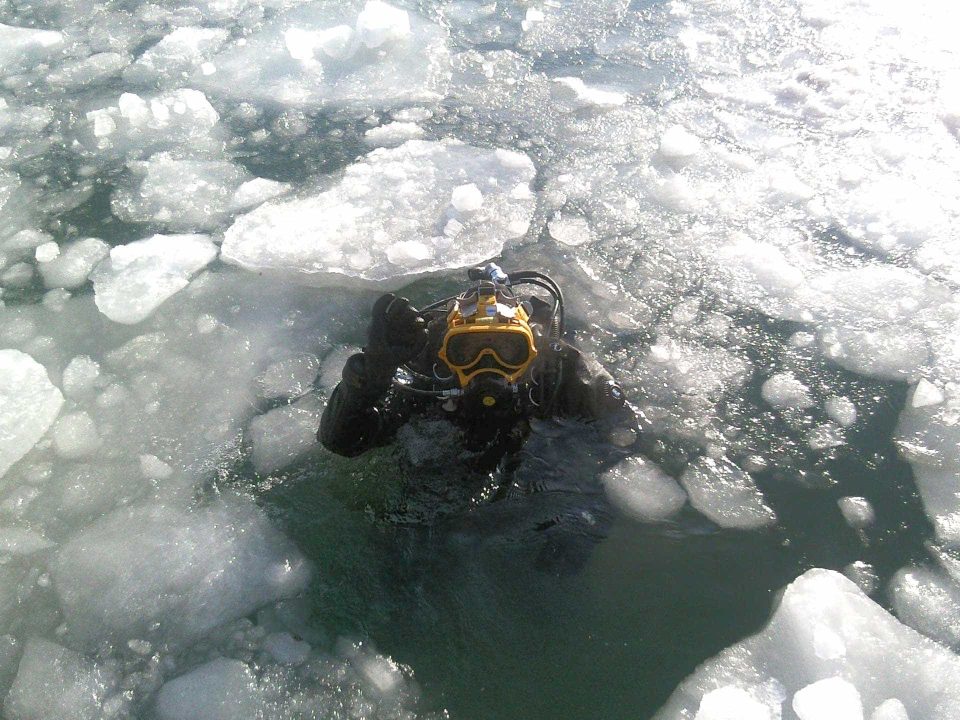
[[[310,594],[359,580],[253,488],[338,472],[314,431],[369,288],[493,258],[557,276],[643,414],[580,479],[616,522],[788,547],[809,493],[862,555],[798,570],[759,632],[625,715],[958,717],[958,21],[0,3],[4,717],[429,715],[415,665],[316,631]],[[931,528],[892,569],[864,559],[892,480],[817,474],[869,461],[885,407]]]

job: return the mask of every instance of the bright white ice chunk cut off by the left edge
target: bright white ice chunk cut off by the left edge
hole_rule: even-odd
[[[0,477],[43,437],[62,405],[40,363],[19,350],[0,350]]]

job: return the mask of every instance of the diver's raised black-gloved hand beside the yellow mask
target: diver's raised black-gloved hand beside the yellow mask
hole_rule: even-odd
[[[420,353],[426,342],[426,320],[409,300],[387,293],[373,306],[364,350],[368,373],[392,377],[400,365]]]

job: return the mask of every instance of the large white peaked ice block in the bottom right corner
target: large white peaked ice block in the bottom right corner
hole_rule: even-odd
[[[857,718],[858,705],[870,717],[891,700],[911,718],[955,720],[960,657],[900,624],[839,573],[814,569],[787,586],[763,630],[698,667],[656,718],[727,717],[701,714],[727,688],[737,691],[726,690],[734,710],[753,708],[748,717],[791,717],[790,708],[801,713],[832,698],[837,714],[829,717],[838,720]]]

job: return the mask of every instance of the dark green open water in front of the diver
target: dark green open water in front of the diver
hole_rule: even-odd
[[[546,476],[541,492],[447,507],[429,525],[383,519],[385,507],[429,504],[424,486],[444,482],[437,468],[437,477],[399,471],[395,448],[321,455],[261,500],[316,563],[316,628],[364,637],[409,665],[421,710],[648,718],[699,663],[761,628],[805,570],[867,561],[882,603],[883,582],[922,557],[928,522],[890,442],[905,388],[867,390],[882,402],[846,447],[807,466],[785,454],[756,474],[780,518],[764,531],[720,529],[689,506],[670,522],[624,517],[597,483],[603,448],[550,428],[522,464]],[[873,504],[866,534],[843,520],[844,495]]]

